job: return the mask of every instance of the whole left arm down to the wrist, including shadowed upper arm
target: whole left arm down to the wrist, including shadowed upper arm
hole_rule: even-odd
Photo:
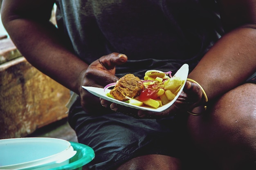
[[[79,94],[80,74],[88,68],[67,50],[49,21],[54,0],[3,0],[2,22],[22,55],[40,71]]]

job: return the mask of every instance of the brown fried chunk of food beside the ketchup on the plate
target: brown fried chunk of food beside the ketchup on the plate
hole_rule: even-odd
[[[144,85],[139,77],[133,74],[127,74],[118,80],[115,87],[110,91],[110,95],[117,100],[127,101],[126,96],[130,98],[137,97],[143,88]]]

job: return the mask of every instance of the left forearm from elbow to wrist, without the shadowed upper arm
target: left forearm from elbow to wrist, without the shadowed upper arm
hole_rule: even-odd
[[[67,50],[52,24],[15,19],[5,23],[5,27],[22,55],[33,66],[79,93],[77,80],[88,65]]]

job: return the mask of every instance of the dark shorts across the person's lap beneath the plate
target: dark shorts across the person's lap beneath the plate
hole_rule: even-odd
[[[79,143],[94,149],[95,159],[88,164],[92,170],[113,170],[141,155],[180,157],[184,134],[177,133],[182,122],[176,117],[137,119],[104,109],[93,116],[85,113],[77,99],[69,113]]]

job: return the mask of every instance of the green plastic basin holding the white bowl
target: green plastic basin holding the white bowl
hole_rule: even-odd
[[[82,170],[84,165],[94,159],[94,150],[89,146],[76,142],[70,142],[70,144],[76,150],[76,155],[70,158],[70,163],[50,170]]]

